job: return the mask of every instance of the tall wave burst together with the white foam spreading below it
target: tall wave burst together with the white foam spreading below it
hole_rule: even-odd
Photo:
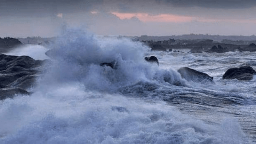
[[[250,143],[232,117],[209,124],[161,99],[141,99],[141,90],[132,97],[120,93],[136,84],[147,88],[142,91],[182,91],[185,81],[172,69],[146,62],[148,47],[140,43],[100,41],[80,30],[60,36],[52,67],[38,79],[34,93],[1,101],[0,143]],[[112,60],[119,68],[100,66]]]

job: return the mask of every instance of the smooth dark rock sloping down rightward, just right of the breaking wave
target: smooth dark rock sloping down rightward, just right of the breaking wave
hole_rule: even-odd
[[[196,71],[188,67],[182,67],[178,70],[178,72],[180,73],[181,77],[186,79],[187,81],[200,82],[200,83],[213,82],[212,76],[209,76],[203,72]]]

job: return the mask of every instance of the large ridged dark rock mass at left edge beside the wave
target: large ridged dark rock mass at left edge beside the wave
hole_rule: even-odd
[[[34,60],[29,56],[0,54],[0,100],[27,91],[36,81],[41,66],[47,60]]]

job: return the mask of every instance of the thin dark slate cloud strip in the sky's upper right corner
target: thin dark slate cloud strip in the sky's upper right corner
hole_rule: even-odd
[[[156,0],[164,2],[174,7],[203,7],[203,8],[220,8],[220,9],[243,9],[256,6],[255,0]]]

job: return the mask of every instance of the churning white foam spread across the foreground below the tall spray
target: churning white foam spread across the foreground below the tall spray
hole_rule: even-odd
[[[205,124],[163,102],[85,92],[73,84],[3,103],[3,144],[248,142],[236,120]]]

